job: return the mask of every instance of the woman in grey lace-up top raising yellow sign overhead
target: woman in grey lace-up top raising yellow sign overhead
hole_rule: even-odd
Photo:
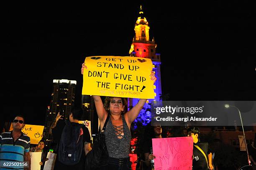
[[[82,64],[81,73],[87,66]],[[150,74],[151,80],[156,81],[154,72]],[[105,129],[105,141],[109,154],[109,164],[102,167],[105,170],[128,170],[130,169],[129,148],[131,141],[131,123],[136,119],[146,103],[146,99],[140,99],[128,112],[125,110],[125,100],[121,97],[106,97],[104,104],[100,96],[93,96],[97,115],[100,120],[100,129],[109,115]]]

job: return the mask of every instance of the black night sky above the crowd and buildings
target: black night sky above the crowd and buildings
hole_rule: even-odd
[[[142,2],[161,54],[162,93],[169,100],[255,100],[254,5],[164,2]],[[0,68],[5,120],[24,114],[28,124],[43,125],[53,79],[77,80],[80,105],[84,58],[127,56],[140,3],[6,7]]]

